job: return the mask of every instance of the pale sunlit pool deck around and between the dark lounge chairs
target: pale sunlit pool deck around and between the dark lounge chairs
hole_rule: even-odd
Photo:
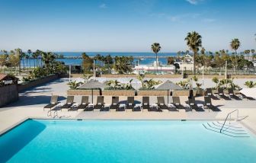
[[[43,106],[50,102],[52,94],[60,96],[59,101],[66,102],[66,91],[68,89],[67,78],[62,78],[46,85],[38,86],[20,94],[19,101],[0,108],[0,134],[5,133],[8,129],[16,126],[18,123],[27,118],[50,119],[48,111],[43,111]],[[95,98],[95,97],[94,97]],[[111,97],[105,97],[106,104],[110,104]],[[170,98],[171,99],[171,98]],[[120,101],[126,100],[126,97],[120,97]],[[135,100],[142,101],[142,97],[135,97]],[[202,101],[203,97],[197,97],[197,101]],[[75,102],[80,103],[81,97],[75,97]],[[91,101],[91,99],[89,99]],[[94,102],[96,99],[94,99]],[[181,97],[181,103],[185,104],[187,97]],[[150,102],[155,103],[156,97],[150,97]],[[165,97],[167,102],[167,97]],[[222,110],[213,112],[206,110],[205,112],[84,112],[84,111],[58,111],[61,119],[92,119],[92,120],[224,120],[226,115],[232,110],[238,109],[239,116],[248,116],[242,120],[242,124],[256,133],[256,101],[213,101],[214,105],[218,105]],[[235,113],[232,115],[235,118]],[[58,119],[58,118],[57,118]]]

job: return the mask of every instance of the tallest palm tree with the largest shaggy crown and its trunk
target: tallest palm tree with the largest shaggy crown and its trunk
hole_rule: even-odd
[[[196,56],[199,51],[199,47],[202,46],[202,37],[196,31],[189,32],[185,38],[187,41],[187,46],[194,53],[194,74],[196,73]]]

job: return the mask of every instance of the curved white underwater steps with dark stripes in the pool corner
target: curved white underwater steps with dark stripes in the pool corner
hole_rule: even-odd
[[[222,129],[221,134],[232,137],[250,137],[245,129],[239,123],[228,123],[225,124],[222,128],[223,123],[220,122],[208,122],[203,123],[204,128],[209,129],[213,132],[220,133],[220,129]]]

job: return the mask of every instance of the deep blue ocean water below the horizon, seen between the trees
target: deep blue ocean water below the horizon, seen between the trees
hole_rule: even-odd
[[[54,53],[58,53],[58,54],[62,54],[64,57],[66,56],[82,56],[82,52],[54,52]],[[139,64],[140,65],[152,65],[153,62],[155,61],[155,53],[138,53],[138,52],[134,52],[134,53],[128,53],[128,52],[89,52],[86,53],[88,56],[96,56],[97,54],[101,54],[101,56],[107,56],[108,54],[110,54],[112,57],[114,56],[153,56],[154,58],[145,58],[145,59],[140,59],[139,60]],[[175,56],[176,53],[158,53],[158,56]],[[58,61],[61,62],[65,62],[66,65],[81,65],[82,64],[82,59],[57,59]],[[134,62],[137,63],[138,59],[134,59]],[[158,58],[158,61],[161,62],[161,64],[165,65],[167,64],[167,58]],[[24,59],[24,66],[31,66],[33,67],[34,64],[36,62],[36,59],[30,59],[30,63],[29,61],[26,61],[26,59]],[[40,64],[40,59],[38,59],[38,62]],[[36,64],[37,65],[37,64]],[[23,67],[23,62],[21,62],[21,66]]]

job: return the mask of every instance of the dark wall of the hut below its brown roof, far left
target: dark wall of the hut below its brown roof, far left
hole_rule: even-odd
[[[5,87],[0,87],[0,107],[14,101],[18,101],[18,86],[6,85]]]

